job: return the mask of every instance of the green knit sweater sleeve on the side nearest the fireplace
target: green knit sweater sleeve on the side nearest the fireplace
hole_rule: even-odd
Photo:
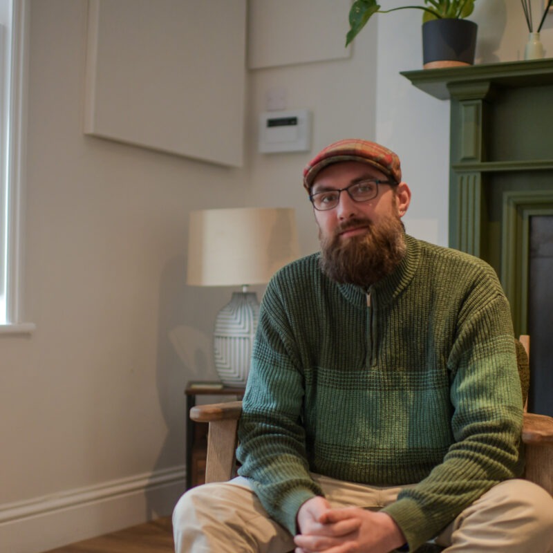
[[[489,488],[521,474],[522,395],[509,306],[501,293],[477,304],[467,299],[448,360],[455,441],[427,478],[384,509],[411,551]]]

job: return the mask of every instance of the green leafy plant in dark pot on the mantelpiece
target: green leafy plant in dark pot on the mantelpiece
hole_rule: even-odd
[[[465,19],[476,0],[424,0],[423,6],[400,6],[381,10],[377,0],[355,0],[351,6],[350,30],[346,46],[375,13],[397,10],[422,10],[422,59],[424,68],[471,65],[474,63],[476,30],[474,21]]]

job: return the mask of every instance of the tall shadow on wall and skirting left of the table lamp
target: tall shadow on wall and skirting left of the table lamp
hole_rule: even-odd
[[[179,256],[167,263],[160,280],[156,388],[167,435],[153,467],[151,488],[146,492],[148,518],[171,514],[185,491],[184,476],[176,475],[182,472],[186,458],[187,382],[218,379],[212,359],[211,319],[215,315],[211,317],[209,306],[216,304],[218,294],[224,292],[188,287],[185,275],[185,257]],[[209,330],[201,330],[203,325]],[[168,474],[167,486],[160,489],[153,480],[164,474]]]

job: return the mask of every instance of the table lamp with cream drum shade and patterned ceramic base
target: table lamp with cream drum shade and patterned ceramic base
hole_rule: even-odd
[[[248,285],[299,257],[294,209],[240,207],[191,212],[187,284],[241,286],[218,312],[215,368],[226,386],[245,386],[259,320],[259,301]]]

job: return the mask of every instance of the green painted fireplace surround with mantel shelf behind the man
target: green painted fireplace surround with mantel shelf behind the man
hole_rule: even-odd
[[[553,236],[539,238],[545,265],[531,247],[532,222],[553,216],[553,59],[402,75],[451,101],[449,245],[496,269],[516,334],[532,334],[534,408],[553,415]],[[538,266],[552,270],[545,280],[533,278]],[[531,305],[534,281],[551,285]]]

